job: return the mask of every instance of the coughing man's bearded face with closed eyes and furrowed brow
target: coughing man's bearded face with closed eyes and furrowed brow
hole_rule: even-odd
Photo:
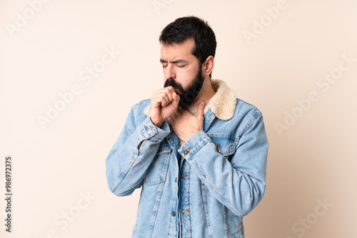
[[[201,90],[204,76],[196,56],[191,54],[193,39],[173,46],[161,47],[160,62],[164,71],[164,87],[173,86],[180,95],[178,105],[187,107]]]

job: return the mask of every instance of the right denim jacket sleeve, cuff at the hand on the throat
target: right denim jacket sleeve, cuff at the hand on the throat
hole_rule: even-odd
[[[266,187],[268,140],[259,111],[245,126],[231,162],[217,152],[216,145],[203,130],[188,139],[178,152],[194,168],[211,195],[234,214],[244,216],[261,201]]]

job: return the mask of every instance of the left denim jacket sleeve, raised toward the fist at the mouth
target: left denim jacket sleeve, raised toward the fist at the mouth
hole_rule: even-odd
[[[116,196],[131,195],[141,187],[159,144],[170,133],[166,121],[158,128],[149,115],[136,126],[136,111],[137,104],[131,108],[119,138],[106,157],[106,180]]]

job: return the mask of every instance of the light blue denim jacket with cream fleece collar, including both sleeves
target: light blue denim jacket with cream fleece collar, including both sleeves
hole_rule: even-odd
[[[131,108],[106,178],[116,196],[141,187],[132,237],[244,237],[242,218],[266,188],[263,116],[224,81],[211,84],[203,130],[181,147],[168,120],[151,122],[150,100]]]

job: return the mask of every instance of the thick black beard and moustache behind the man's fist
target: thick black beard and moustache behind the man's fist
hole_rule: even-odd
[[[198,95],[198,93],[200,92],[203,86],[203,81],[204,81],[204,76],[202,75],[201,67],[199,67],[196,77],[193,78],[193,81],[191,82],[191,84],[188,86],[186,90],[183,90],[181,83],[174,81],[174,78],[168,78],[164,83],[164,88],[168,86],[173,86],[174,88],[178,88],[182,92],[181,94],[178,94],[180,96],[178,105],[187,108],[188,105],[193,103],[193,101],[196,99],[196,96]]]

